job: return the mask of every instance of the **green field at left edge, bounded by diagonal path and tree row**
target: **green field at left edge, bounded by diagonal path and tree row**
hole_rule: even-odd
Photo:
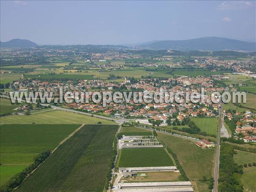
[[[0,125],[0,185],[42,151],[54,149],[80,125]]]

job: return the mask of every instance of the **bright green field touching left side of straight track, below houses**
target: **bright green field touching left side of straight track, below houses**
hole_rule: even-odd
[[[200,117],[200,118],[191,118],[195,125],[197,125],[202,132],[207,134],[212,134],[217,136],[218,130],[218,118],[215,117]]]

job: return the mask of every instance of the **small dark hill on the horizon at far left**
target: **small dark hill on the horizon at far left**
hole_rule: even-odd
[[[0,41],[0,47],[38,47],[38,44],[26,39],[12,39],[10,41]]]

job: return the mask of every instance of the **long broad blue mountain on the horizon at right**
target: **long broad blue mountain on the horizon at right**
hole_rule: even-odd
[[[173,50],[203,50],[203,51],[255,51],[256,43],[239,41],[228,38],[204,37],[179,41],[154,41],[152,43],[141,43],[133,47],[140,49],[173,49]]]

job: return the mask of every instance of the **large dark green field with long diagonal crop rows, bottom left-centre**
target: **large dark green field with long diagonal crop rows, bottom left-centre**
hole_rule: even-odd
[[[85,125],[16,191],[103,191],[115,154],[113,141],[117,129],[117,125]]]

